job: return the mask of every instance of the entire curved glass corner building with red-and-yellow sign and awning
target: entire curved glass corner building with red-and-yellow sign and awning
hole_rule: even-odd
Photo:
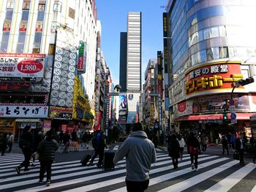
[[[167,2],[164,38],[174,128],[206,130],[211,140],[226,133],[229,124],[240,131],[249,128],[249,117],[256,112],[255,83],[236,88],[236,82],[256,74],[255,10],[252,0]],[[231,92],[233,111],[223,107]]]

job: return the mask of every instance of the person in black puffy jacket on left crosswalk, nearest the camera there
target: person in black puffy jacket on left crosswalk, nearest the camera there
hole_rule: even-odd
[[[58,149],[58,142],[53,139],[53,131],[48,131],[46,137],[42,142],[39,142],[37,147],[37,153],[39,154],[40,161],[40,173],[39,173],[39,183],[43,182],[45,170],[47,172],[47,183],[50,185],[51,177],[51,166],[55,158],[55,151]]]

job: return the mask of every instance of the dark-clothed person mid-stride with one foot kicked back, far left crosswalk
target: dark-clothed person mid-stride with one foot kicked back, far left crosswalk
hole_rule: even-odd
[[[20,174],[20,169],[24,166],[24,172],[29,171],[29,160],[31,158],[33,150],[33,136],[31,134],[31,126],[25,126],[23,130],[23,135],[20,137],[19,147],[21,148],[25,160],[16,166],[16,172]]]

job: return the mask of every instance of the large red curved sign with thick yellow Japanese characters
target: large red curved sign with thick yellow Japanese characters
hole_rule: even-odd
[[[239,63],[206,64],[187,72],[185,92],[189,95],[200,91],[233,88],[234,83],[241,78],[243,74]]]

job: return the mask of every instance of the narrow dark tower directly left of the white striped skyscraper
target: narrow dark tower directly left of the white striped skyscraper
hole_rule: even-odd
[[[127,32],[120,33],[119,85],[121,92],[127,91]]]

